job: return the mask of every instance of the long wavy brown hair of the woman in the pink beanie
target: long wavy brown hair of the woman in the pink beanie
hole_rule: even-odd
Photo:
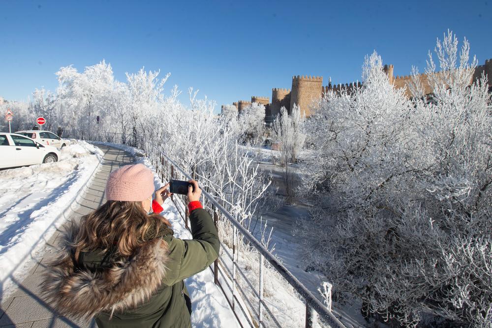
[[[96,249],[107,251],[116,246],[115,254],[130,256],[145,242],[145,233],[151,226],[155,225],[158,232],[161,224],[156,221],[171,227],[161,215],[147,214],[142,202],[107,201],[81,218],[73,246],[77,253]]]

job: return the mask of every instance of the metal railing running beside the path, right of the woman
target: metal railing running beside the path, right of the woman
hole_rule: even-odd
[[[146,149],[144,150],[147,152],[147,156],[154,165],[156,173],[163,181],[169,181],[170,179],[189,180],[196,178],[195,172],[192,172],[191,175],[184,172],[184,170],[162,149],[159,149],[150,143],[146,144],[145,148]],[[344,327],[334,314],[315,298],[307,288],[289,270],[287,270],[287,268],[285,268],[277,258],[268,251],[268,249],[254,238],[231,213],[220,205],[208,190],[202,190],[202,195],[204,196],[203,205],[206,208],[210,208],[213,212],[215,226],[217,226],[219,216],[228,220],[233,226],[232,254],[231,251],[228,250],[230,247],[224,245],[221,241],[221,249],[225,254],[225,258],[219,256],[219,258],[215,260],[213,268],[211,266],[211,270],[214,274],[215,284],[221,289],[241,327],[245,327],[245,325],[254,328],[269,327],[267,325],[279,328],[282,327],[264,297],[265,260],[268,261],[271,268],[277,271],[288,284],[294,288],[300,297],[304,299],[306,304],[306,328],[312,327],[314,312],[316,312],[319,318],[331,327]],[[187,207],[184,205],[186,204],[185,196],[173,195],[172,199],[185,222],[185,227],[189,230],[189,213]],[[246,240],[248,246],[259,253],[258,290],[254,287],[255,283],[248,279],[243,268],[241,268],[239,264],[240,248],[238,247],[238,241],[240,236],[243,240]],[[228,268],[227,261],[232,263],[232,269]],[[242,286],[240,282],[244,282],[245,284]],[[245,290],[244,287],[247,287],[248,290]],[[256,304],[253,304],[253,300],[255,299]],[[270,320],[266,320],[266,316],[268,316]]]

